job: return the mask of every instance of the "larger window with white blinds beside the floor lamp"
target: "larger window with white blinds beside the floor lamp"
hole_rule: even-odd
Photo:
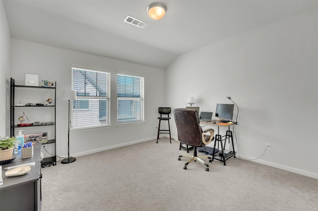
[[[72,68],[73,128],[109,125],[110,73]]]

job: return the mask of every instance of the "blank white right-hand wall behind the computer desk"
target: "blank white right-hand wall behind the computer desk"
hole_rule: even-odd
[[[166,78],[173,108],[193,96],[215,112],[232,97],[241,158],[258,158],[271,143],[256,162],[318,178],[317,8],[183,54]]]

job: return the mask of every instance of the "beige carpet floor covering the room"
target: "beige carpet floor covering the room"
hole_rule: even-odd
[[[238,158],[184,170],[179,154],[161,138],[42,168],[42,211],[318,209],[317,179]]]

